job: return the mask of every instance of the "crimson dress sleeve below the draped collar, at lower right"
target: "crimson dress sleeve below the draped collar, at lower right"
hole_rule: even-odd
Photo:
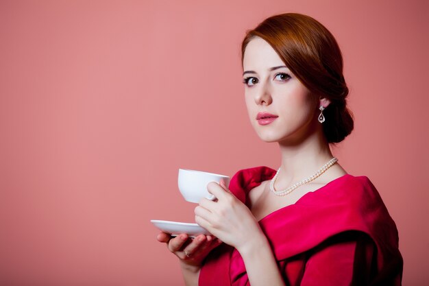
[[[376,272],[376,248],[364,233],[331,237],[309,253],[301,286],[369,285]]]

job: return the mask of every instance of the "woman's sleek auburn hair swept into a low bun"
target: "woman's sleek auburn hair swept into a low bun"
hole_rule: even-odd
[[[310,16],[286,13],[271,16],[248,30],[241,45],[241,65],[247,44],[256,36],[265,40],[286,67],[315,100],[326,97],[323,133],[328,143],[339,143],[353,130],[353,118],[346,106],[349,90],[343,77],[343,56],[334,36]]]

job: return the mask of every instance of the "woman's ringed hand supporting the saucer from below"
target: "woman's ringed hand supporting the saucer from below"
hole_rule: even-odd
[[[198,235],[191,239],[185,233],[177,237],[171,237],[168,233],[159,233],[156,239],[167,243],[167,248],[179,257],[181,263],[193,267],[200,267],[207,254],[222,243],[212,235]]]

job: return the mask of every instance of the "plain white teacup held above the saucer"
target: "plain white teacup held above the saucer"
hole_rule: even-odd
[[[218,184],[224,182],[225,186],[228,187],[230,177],[205,171],[179,169],[177,184],[183,198],[188,202],[199,202],[202,198],[215,200],[215,196],[207,190],[209,182],[217,182]]]

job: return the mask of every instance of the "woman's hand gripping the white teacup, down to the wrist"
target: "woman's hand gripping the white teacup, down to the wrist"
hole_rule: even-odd
[[[221,241],[234,246],[239,252],[258,241],[265,239],[252,212],[238,200],[225,184],[210,182],[209,193],[215,195],[216,202],[203,198],[195,208],[195,222],[206,228]]]

